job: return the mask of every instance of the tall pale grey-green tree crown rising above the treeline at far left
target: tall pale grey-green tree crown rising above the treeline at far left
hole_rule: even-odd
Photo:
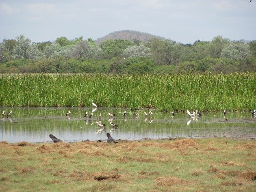
[[[30,46],[30,39],[25,38],[24,35],[20,35],[19,37],[16,37],[16,39],[17,43],[13,48],[13,57],[15,59],[28,58],[26,52],[28,50],[28,47]]]

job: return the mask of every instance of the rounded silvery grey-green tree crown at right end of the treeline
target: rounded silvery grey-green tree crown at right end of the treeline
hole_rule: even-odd
[[[232,41],[228,43],[221,52],[221,57],[234,60],[243,60],[251,55],[252,53],[250,47],[244,42],[244,40],[241,40],[240,42]]]

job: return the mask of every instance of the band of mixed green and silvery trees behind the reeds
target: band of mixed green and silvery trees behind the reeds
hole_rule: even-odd
[[[170,39],[109,39],[100,44],[82,37],[31,43],[20,35],[0,43],[0,73],[232,73],[256,72],[256,41],[182,44]]]

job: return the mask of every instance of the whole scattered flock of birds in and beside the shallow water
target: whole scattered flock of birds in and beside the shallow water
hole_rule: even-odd
[[[93,103],[93,100],[91,100],[91,104],[92,104],[93,107],[95,107],[95,108],[92,110],[92,112],[91,112],[90,115],[89,115],[89,112],[85,112],[85,115],[84,115],[85,118],[87,118],[88,115],[89,115],[89,119],[91,119],[91,118],[93,117],[93,112],[95,112],[95,110],[97,109],[97,105],[96,105],[95,103]],[[193,111],[193,112],[190,112],[189,110],[187,110],[186,112],[187,112],[187,115],[188,115],[191,119],[193,119],[193,121],[194,121],[194,120],[197,121],[198,118],[201,118],[201,117],[202,117],[202,113],[200,113],[198,110],[195,110],[195,111]],[[3,112],[2,112],[2,117],[3,117],[3,118],[5,118],[5,117],[10,118],[10,117],[12,116],[12,114],[13,114],[12,110],[10,110],[10,112],[9,112],[8,114],[7,114],[5,111],[3,111]],[[127,114],[127,111],[124,111],[124,114],[123,114],[124,119],[126,119],[126,114]],[[148,116],[150,116],[150,123],[151,123],[151,122],[152,122],[153,112],[152,112],[152,111],[150,111],[149,113],[143,112],[143,114],[144,114],[144,116],[145,116],[145,119],[146,119]],[[226,114],[227,114],[226,110],[223,110],[223,116],[224,116],[224,117],[226,117]],[[107,115],[110,117],[110,119],[108,120],[108,121],[110,122],[110,126],[113,127],[113,128],[110,129],[110,132],[111,132],[111,131],[115,130],[116,128],[118,128],[118,125],[112,122],[113,117],[116,116],[116,114],[114,114],[114,113],[108,113]],[[174,112],[171,112],[171,117],[174,117],[174,115],[175,115],[175,113],[174,113]],[[68,116],[68,118],[70,119],[70,116],[71,116],[71,111],[70,111],[70,110],[66,113],[66,116]],[[138,118],[139,118],[139,113],[135,112],[135,113],[133,114],[133,116],[135,116],[135,119],[138,119]],[[254,109],[254,110],[252,111],[252,117],[255,118],[255,116],[256,116],[256,110]],[[95,122],[95,123],[97,123],[97,125],[98,125],[98,127],[99,127],[99,128],[98,128],[98,132],[101,132],[101,131],[103,131],[103,130],[106,128],[106,124],[104,124],[104,123],[102,123],[102,122],[100,121],[101,118],[102,118],[102,115],[101,115],[101,113],[100,113],[100,115],[98,116],[99,121],[96,121],[96,122]],[[187,125],[189,125],[189,123],[191,122],[191,119],[188,121]],[[228,119],[226,119],[226,121],[228,121]],[[97,132],[97,133],[98,133],[98,132]],[[111,137],[111,135],[110,135],[109,133],[107,133],[106,136],[108,137],[107,142],[114,142],[114,143],[117,143],[117,141],[115,141],[115,140]],[[62,142],[62,140],[56,138],[56,137],[53,136],[52,134],[50,134],[49,137],[52,139],[52,141],[53,141],[54,143]]]

